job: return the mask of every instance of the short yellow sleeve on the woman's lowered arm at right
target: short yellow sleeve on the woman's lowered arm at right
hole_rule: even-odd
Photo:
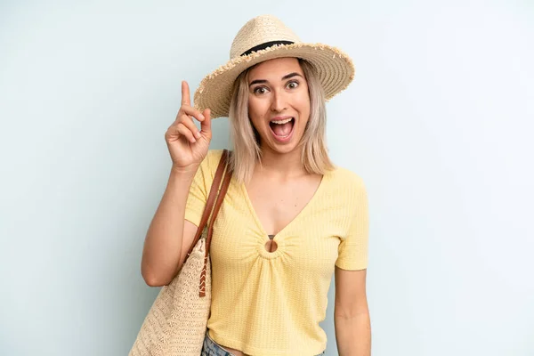
[[[352,194],[347,196],[348,230],[341,238],[336,260],[337,267],[348,271],[364,270],[368,266],[368,195],[365,184],[357,178],[352,182]]]

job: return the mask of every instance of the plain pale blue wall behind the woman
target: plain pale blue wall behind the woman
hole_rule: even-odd
[[[328,144],[368,186],[373,355],[533,355],[526,0],[0,3],[0,354],[129,351],[180,81],[263,13],[357,68]]]

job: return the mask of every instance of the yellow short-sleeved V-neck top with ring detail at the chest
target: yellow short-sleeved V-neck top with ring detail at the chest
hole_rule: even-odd
[[[223,150],[210,150],[191,184],[185,219],[198,226]],[[212,304],[207,322],[217,344],[250,355],[316,355],[327,347],[325,319],[334,266],[368,265],[368,201],[359,175],[324,174],[309,203],[269,240],[233,178],[210,247]]]

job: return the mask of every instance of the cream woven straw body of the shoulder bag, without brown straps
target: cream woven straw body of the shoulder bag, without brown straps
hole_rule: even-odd
[[[129,356],[198,356],[206,336],[211,303],[211,263],[207,260],[206,296],[198,296],[206,254],[206,229],[182,270],[162,287],[142,323]]]

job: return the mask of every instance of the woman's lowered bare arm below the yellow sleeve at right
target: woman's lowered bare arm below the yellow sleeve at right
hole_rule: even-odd
[[[366,293],[367,269],[345,271],[336,266],[334,324],[340,356],[371,354],[371,321]]]

